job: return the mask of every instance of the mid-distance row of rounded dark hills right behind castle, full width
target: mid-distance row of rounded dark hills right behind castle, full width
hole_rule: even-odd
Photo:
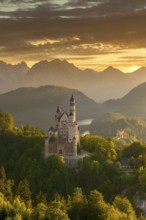
[[[20,88],[0,95],[0,109],[12,113],[16,125],[32,124],[44,130],[54,124],[57,106],[69,111],[72,93],[77,103],[77,120],[103,117],[118,112],[130,117],[146,118],[146,82],[121,99],[96,103],[78,90],[58,86]]]

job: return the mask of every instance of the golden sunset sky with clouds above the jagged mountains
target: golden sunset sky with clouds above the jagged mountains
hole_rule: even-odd
[[[146,66],[146,0],[0,0],[0,60]]]

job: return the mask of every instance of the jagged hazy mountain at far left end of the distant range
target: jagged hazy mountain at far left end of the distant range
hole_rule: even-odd
[[[28,70],[29,68],[25,62],[11,65],[0,61],[0,93],[8,89],[16,79],[24,76]]]

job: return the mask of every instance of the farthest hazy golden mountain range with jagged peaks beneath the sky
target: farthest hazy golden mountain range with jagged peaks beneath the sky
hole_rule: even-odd
[[[146,67],[125,74],[111,66],[100,72],[80,70],[59,59],[40,61],[31,68],[24,62],[18,65],[0,62],[1,93],[21,87],[56,85],[78,89],[96,102],[103,102],[121,98],[142,82],[146,82]]]

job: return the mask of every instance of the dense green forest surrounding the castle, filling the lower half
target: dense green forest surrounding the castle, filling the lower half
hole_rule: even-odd
[[[90,156],[71,169],[62,157],[44,159],[44,137],[0,112],[0,219],[146,219],[135,202],[146,199],[146,143],[82,136],[79,152]]]

